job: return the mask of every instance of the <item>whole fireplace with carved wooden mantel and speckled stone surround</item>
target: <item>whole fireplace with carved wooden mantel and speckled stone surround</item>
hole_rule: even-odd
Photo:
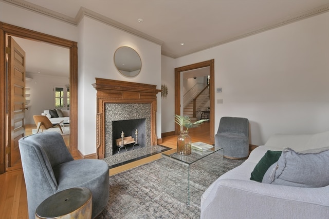
[[[97,158],[116,165],[157,150],[156,94],[161,90],[156,85],[102,78],[96,78],[93,86],[97,90]],[[121,133],[135,140],[136,129],[139,146],[129,145],[118,153],[116,140]]]

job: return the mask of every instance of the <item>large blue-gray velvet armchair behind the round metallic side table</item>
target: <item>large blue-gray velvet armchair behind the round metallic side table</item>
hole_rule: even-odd
[[[72,187],[92,191],[92,217],[109,197],[108,165],[94,159],[74,160],[58,132],[43,132],[19,140],[29,218],[47,197]],[[58,207],[58,206],[56,206]]]

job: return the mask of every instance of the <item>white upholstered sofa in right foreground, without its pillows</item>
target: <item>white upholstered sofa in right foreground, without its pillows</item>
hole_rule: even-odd
[[[201,218],[329,218],[329,186],[302,188],[249,180],[267,150],[282,151],[289,147],[304,151],[328,146],[329,131],[271,136],[243,164],[220,176],[204,192]]]

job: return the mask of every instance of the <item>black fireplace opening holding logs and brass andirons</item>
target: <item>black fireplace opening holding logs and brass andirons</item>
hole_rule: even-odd
[[[113,121],[112,128],[113,155],[145,147],[145,118]]]

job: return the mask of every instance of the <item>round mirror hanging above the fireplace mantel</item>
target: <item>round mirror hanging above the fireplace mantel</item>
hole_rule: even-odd
[[[138,53],[127,46],[119,47],[115,51],[114,64],[126,77],[135,77],[140,72],[142,65]]]

